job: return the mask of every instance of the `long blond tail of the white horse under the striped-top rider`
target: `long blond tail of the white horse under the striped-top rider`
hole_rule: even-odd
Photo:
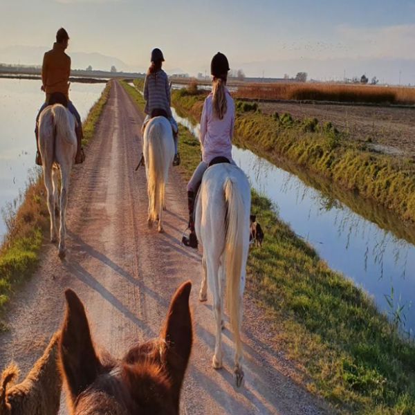
[[[149,216],[156,221],[158,208],[164,206],[165,169],[168,169],[163,151],[163,124],[154,121],[149,125],[148,140],[148,177]],[[147,160],[146,160],[147,162]]]

